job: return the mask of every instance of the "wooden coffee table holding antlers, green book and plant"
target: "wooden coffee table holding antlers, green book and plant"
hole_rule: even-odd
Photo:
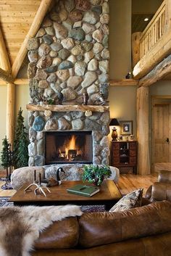
[[[35,186],[31,187],[32,191],[25,192],[25,188],[28,186],[26,183],[22,186],[11,199],[10,202],[14,202],[14,205],[106,205],[108,210],[114,205],[121,197],[122,194],[117,188],[114,181],[105,180],[100,186],[100,191],[94,194],[93,197],[83,197],[78,194],[70,194],[67,192],[72,186],[83,183],[82,181],[62,181],[60,186],[54,186],[49,188],[51,193],[47,192],[44,197],[43,194],[34,194],[33,190]],[[83,183],[88,184],[89,183]]]

